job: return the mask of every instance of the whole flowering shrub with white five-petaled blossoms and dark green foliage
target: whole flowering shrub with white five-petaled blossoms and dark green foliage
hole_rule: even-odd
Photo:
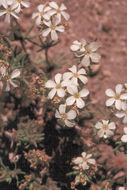
[[[63,3],[39,4],[31,15],[36,29],[23,31],[20,16],[30,6],[0,1],[9,28],[0,32],[0,189],[126,189],[127,84],[105,91],[105,112],[97,119],[87,84],[100,64],[99,42],[75,39],[68,47],[73,64],[54,74],[48,52],[66,34],[70,15]],[[44,52],[43,61],[27,43]]]

